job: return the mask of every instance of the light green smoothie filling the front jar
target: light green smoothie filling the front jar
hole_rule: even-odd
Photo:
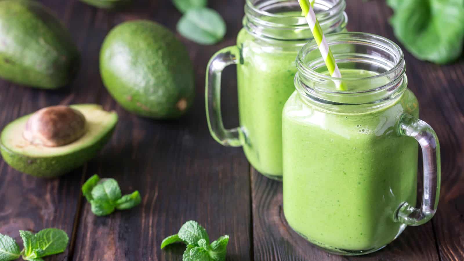
[[[376,74],[341,72],[343,78]],[[283,189],[284,214],[294,230],[334,252],[377,249],[401,233],[405,225],[393,216],[402,202],[415,205],[418,159],[416,141],[396,133],[403,113],[419,114],[409,89],[359,113],[327,111],[297,91],[291,95],[283,111]]]

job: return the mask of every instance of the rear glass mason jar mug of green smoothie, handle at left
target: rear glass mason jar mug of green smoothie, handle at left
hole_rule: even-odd
[[[345,30],[344,0],[318,0],[315,11],[325,33]],[[251,165],[282,179],[282,108],[295,90],[295,58],[312,34],[297,0],[246,0],[237,45],[211,58],[206,72],[206,117],[211,135],[225,146],[243,146]],[[220,112],[221,72],[237,65],[240,126],[224,128]]]

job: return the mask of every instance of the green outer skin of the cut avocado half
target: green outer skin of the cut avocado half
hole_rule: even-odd
[[[65,173],[75,170],[82,164],[88,162],[95,157],[99,150],[110,140],[114,131],[111,129],[97,143],[88,146],[85,149],[77,151],[73,154],[47,157],[29,157],[22,154],[14,153],[8,150],[0,143],[0,153],[3,160],[13,169],[29,174],[31,176],[41,178],[54,178]],[[13,167],[14,166],[14,167]]]

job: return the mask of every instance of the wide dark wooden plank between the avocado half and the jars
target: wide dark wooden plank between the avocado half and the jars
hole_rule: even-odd
[[[89,164],[87,177],[94,173],[114,177],[123,193],[138,189],[142,204],[97,217],[85,203],[73,260],[181,260],[185,246],[161,250],[160,244],[188,220],[204,225],[212,239],[231,236],[227,260],[250,259],[249,165],[240,149],[222,147],[210,136],[203,101],[207,61],[220,48],[235,43],[241,27],[237,17],[242,14],[230,13],[243,13],[243,1],[210,1],[210,7],[226,19],[228,33],[217,46],[184,40],[195,65],[197,88],[195,104],[186,116],[170,121],[143,119],[122,110],[106,93],[99,98],[105,107],[116,109],[120,122],[111,144],[95,164]],[[137,18],[156,20],[175,31],[180,13],[169,0],[138,1],[120,13],[98,11],[89,37],[97,45],[112,26]],[[96,53],[92,50],[87,55]],[[97,65],[88,66],[97,71]],[[225,97],[237,97],[234,78],[233,73],[225,75]],[[94,88],[103,89],[99,80],[91,82]],[[223,105],[225,117],[236,118],[236,100],[225,99]]]

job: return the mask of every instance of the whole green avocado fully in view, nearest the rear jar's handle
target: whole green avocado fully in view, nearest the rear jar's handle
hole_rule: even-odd
[[[111,96],[142,117],[180,117],[193,103],[187,49],[152,21],[133,20],[113,28],[100,51],[100,73]]]

